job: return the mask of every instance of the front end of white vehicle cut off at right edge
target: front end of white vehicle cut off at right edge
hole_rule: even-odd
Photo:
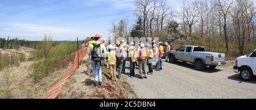
[[[256,76],[256,50],[248,55],[237,58],[234,72],[240,72],[243,81],[253,80],[253,76]]]

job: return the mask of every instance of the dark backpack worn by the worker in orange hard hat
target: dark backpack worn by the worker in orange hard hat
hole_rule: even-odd
[[[93,44],[92,50],[92,60],[97,62],[101,62],[103,59],[103,55],[101,52],[101,45],[100,44]]]

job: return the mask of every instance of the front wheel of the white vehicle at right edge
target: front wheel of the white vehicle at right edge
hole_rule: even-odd
[[[251,72],[250,68],[242,68],[240,71],[240,75],[243,81],[251,81],[253,80],[253,72]]]

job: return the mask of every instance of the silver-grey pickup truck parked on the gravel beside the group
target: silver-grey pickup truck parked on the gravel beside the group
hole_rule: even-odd
[[[172,50],[169,58],[170,63],[175,63],[176,60],[193,63],[198,71],[207,66],[216,68],[218,65],[226,64],[225,54],[206,52],[205,48],[200,46],[181,46],[177,50]]]

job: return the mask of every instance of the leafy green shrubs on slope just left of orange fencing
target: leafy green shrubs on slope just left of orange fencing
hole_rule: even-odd
[[[75,42],[63,42],[56,46],[51,46],[48,48],[49,52],[47,57],[43,56],[46,55],[43,51],[46,48],[40,48],[42,46],[38,47],[39,49],[34,53],[35,63],[34,72],[32,74],[35,82],[38,82],[40,78],[47,76],[48,73],[53,72],[54,69],[67,66],[69,61],[73,61],[73,58],[75,58],[75,55],[69,55],[76,51]]]

